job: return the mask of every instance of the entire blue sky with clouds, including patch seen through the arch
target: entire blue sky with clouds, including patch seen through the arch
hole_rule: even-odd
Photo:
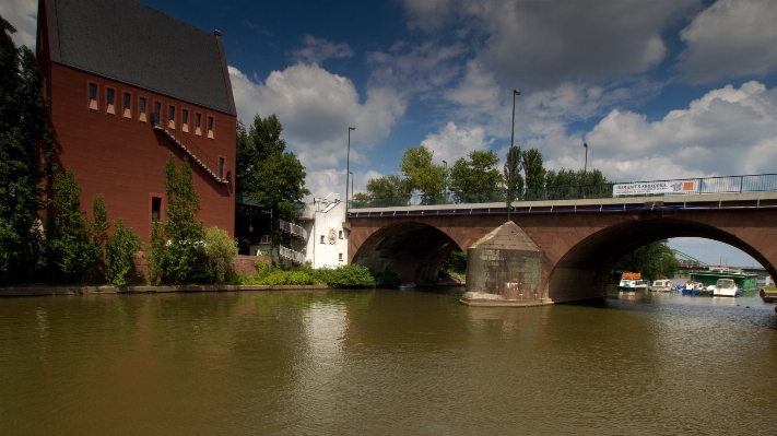
[[[315,197],[397,174],[424,144],[538,149],[614,181],[776,173],[777,2],[756,0],[142,0],[223,33],[238,118],[275,114]],[[0,0],[35,45],[37,1]],[[756,264],[692,238],[670,246]],[[707,258],[708,257],[708,258]],[[725,260],[723,260],[725,262]]]

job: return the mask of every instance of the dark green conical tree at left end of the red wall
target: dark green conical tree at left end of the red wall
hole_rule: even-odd
[[[58,174],[54,181],[54,239],[51,250],[59,271],[69,276],[82,273],[92,263],[92,243],[86,228],[86,216],[81,210],[81,187],[71,169]]]

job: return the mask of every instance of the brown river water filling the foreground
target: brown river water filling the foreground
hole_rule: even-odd
[[[0,435],[777,434],[753,294],[459,293],[0,298]]]

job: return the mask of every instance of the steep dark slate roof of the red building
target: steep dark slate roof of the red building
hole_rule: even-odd
[[[55,0],[60,62],[235,115],[215,35],[134,0]]]

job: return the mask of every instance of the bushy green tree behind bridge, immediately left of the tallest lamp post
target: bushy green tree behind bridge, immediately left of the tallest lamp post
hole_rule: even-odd
[[[458,202],[504,200],[499,187],[504,178],[496,164],[499,156],[493,151],[472,151],[469,160],[460,157],[450,168],[450,190]]]

